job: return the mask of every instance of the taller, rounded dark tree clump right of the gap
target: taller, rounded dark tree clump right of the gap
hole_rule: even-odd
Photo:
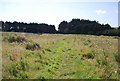
[[[84,19],[62,21],[58,31],[63,34],[118,35],[118,29],[112,28],[109,24],[100,24],[97,21]]]

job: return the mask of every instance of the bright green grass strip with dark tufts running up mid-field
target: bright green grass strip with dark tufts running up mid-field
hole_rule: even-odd
[[[49,47],[50,46],[50,47]],[[44,66],[44,70],[42,70],[44,73],[42,73],[41,71],[37,72],[38,74],[42,75],[40,77],[36,77],[36,78],[57,78],[57,76],[61,75],[61,68],[64,63],[66,58],[66,47],[67,47],[67,42],[66,40],[63,38],[57,42],[51,43],[49,44],[49,46],[47,46],[45,48],[45,52],[47,54],[46,58],[48,61],[48,64]],[[63,63],[64,62],[64,63]],[[59,69],[59,70],[58,70]],[[47,73],[46,73],[47,72]],[[59,74],[60,72],[60,74]]]

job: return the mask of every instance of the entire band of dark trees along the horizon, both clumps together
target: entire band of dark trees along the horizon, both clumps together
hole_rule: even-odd
[[[100,24],[97,21],[84,19],[72,19],[70,22],[62,21],[58,31],[54,25],[45,23],[3,22],[2,31],[5,32],[27,32],[27,33],[59,33],[59,34],[89,34],[120,36],[120,26],[113,28],[109,24]]]

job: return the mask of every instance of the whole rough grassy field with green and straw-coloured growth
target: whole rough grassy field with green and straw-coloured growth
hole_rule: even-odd
[[[117,37],[4,32],[5,79],[118,79]]]

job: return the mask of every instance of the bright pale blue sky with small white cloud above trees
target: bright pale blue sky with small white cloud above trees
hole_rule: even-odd
[[[106,2],[105,2],[106,1]],[[118,26],[118,0],[0,0],[0,21],[55,25],[73,18]]]

